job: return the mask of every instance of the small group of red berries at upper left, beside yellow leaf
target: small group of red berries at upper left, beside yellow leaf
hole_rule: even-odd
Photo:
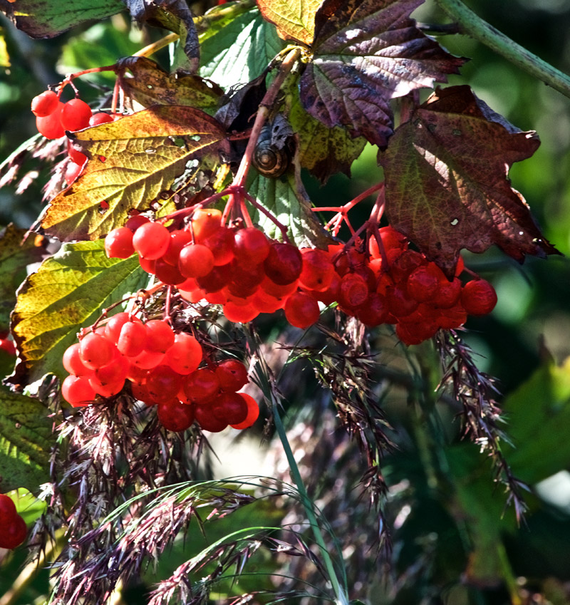
[[[93,113],[89,105],[79,98],[62,103],[59,95],[54,91],[44,91],[34,97],[31,101],[31,110],[36,116],[38,133],[47,139],[63,137],[66,130],[74,132],[88,128],[88,126],[113,122],[120,118],[120,115],[110,115],[105,112]],[[71,142],[68,143],[67,152],[70,162],[68,162],[63,177],[67,184],[71,185],[81,173],[87,156],[73,148]]]

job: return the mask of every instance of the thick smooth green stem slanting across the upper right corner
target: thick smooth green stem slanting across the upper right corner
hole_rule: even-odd
[[[527,51],[524,46],[520,46],[504,33],[494,29],[487,21],[483,21],[468,9],[461,0],[437,0],[437,4],[460,26],[462,33],[480,41],[517,67],[524,69],[527,73],[570,98],[570,77],[565,73]]]

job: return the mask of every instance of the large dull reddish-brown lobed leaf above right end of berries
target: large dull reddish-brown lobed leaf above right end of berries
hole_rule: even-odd
[[[538,146],[534,131],[515,128],[469,86],[438,89],[379,155],[390,224],[447,274],[462,248],[497,244],[519,262],[558,254],[508,178]]]

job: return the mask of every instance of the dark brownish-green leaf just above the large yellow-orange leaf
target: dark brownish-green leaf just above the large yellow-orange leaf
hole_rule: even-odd
[[[213,114],[222,88],[199,76],[175,76],[145,57],[128,57],[121,62],[132,78],[123,78],[123,91],[141,105],[187,105]]]

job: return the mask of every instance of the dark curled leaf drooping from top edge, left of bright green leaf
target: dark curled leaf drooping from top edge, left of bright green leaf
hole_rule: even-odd
[[[179,34],[180,44],[172,66],[176,71],[197,71],[200,56],[198,33],[192,11],[184,0],[123,0],[123,3],[139,24],[147,21],[150,25]]]

